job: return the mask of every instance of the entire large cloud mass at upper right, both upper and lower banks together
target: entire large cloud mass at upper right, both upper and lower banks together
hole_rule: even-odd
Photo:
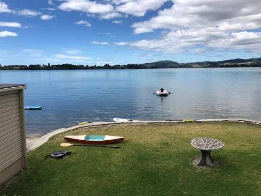
[[[147,21],[132,25],[135,34],[164,29],[160,39],[130,43],[143,50],[204,52],[203,47],[217,50],[260,52],[261,2],[259,0],[173,0],[171,8],[158,12]],[[246,31],[247,30],[247,31]]]

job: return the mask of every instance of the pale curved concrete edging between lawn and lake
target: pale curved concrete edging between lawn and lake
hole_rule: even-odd
[[[251,121],[247,119],[201,119],[201,120],[194,120],[194,122],[217,122],[217,121],[230,121],[230,122],[246,122],[246,123],[255,123],[255,124],[260,124],[261,121]],[[192,121],[193,122],[193,121]],[[31,151],[36,149],[37,147],[43,145],[45,142],[49,140],[50,137],[57,135],[62,132],[82,128],[82,127],[91,127],[91,126],[102,126],[102,125],[114,125],[114,124],[148,124],[148,123],[185,123],[183,120],[164,120],[164,121],[139,121],[139,120],[134,120],[131,122],[124,122],[124,123],[118,123],[118,122],[93,122],[93,123],[88,123],[84,125],[76,125],[68,128],[61,128],[57,129],[55,131],[52,131],[50,133],[47,133],[44,136],[39,136],[37,134],[32,134],[30,136],[26,137],[26,145],[27,145],[27,151]]]

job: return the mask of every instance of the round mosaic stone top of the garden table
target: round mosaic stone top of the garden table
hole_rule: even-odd
[[[212,138],[194,138],[190,144],[200,150],[219,150],[224,147],[223,142]]]

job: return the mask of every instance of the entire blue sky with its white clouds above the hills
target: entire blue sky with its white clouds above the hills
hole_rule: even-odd
[[[0,0],[0,63],[261,56],[260,0]]]

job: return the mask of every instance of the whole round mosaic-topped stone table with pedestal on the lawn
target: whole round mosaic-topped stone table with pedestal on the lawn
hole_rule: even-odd
[[[206,164],[211,168],[214,168],[214,160],[210,155],[211,151],[219,150],[224,147],[223,142],[212,138],[194,138],[190,141],[190,144],[201,151],[197,166]]]

